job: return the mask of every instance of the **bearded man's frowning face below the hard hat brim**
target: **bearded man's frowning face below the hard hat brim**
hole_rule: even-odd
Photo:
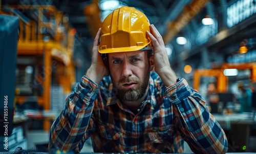
[[[153,57],[148,60],[146,51],[110,53],[110,75],[117,96],[124,101],[142,98],[153,66]]]

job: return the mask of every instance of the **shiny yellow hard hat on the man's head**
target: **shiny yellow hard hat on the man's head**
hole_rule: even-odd
[[[150,21],[133,7],[121,7],[110,13],[101,26],[99,53],[141,50],[151,43],[146,35]]]

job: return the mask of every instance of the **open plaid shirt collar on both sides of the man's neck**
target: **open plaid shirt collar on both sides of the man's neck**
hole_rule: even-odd
[[[120,102],[119,98],[116,97],[117,90],[113,88],[113,84],[110,84],[110,95],[108,97],[108,101],[106,101],[106,106],[118,104],[120,108],[123,108],[122,103]],[[154,90],[154,80],[150,76],[150,87],[148,88],[146,99],[143,101],[142,104],[151,103],[152,106],[156,104],[156,98],[154,96],[155,90]]]

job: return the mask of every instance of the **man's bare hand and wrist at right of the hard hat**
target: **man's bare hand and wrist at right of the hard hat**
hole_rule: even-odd
[[[153,24],[150,26],[150,29],[152,34],[147,31],[147,35],[153,43],[155,71],[160,76],[165,86],[174,85],[178,77],[172,68],[170,68],[163,38]]]

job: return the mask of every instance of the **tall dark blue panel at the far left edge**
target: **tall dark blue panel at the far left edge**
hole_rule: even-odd
[[[19,18],[0,14],[0,136],[11,136]]]

